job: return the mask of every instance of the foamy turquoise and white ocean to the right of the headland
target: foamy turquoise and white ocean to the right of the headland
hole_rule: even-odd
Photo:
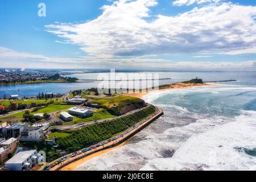
[[[256,74],[221,77],[238,81],[144,96],[163,117],[77,170],[256,170]]]

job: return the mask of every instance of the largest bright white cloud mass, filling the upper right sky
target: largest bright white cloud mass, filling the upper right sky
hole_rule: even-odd
[[[256,53],[255,6],[221,3],[145,20],[152,18],[150,7],[156,5],[156,0],[120,0],[102,7],[102,15],[92,21],[46,27],[89,55],[102,57]]]

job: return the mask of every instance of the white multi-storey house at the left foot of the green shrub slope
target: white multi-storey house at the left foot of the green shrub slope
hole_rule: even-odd
[[[22,131],[19,140],[22,142],[40,142],[46,138],[49,133],[51,125],[47,123],[43,127],[29,127]]]

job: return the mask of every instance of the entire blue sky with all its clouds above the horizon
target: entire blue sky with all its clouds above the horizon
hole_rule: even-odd
[[[46,6],[45,15],[39,3]],[[1,68],[256,71],[256,1],[1,0]]]

